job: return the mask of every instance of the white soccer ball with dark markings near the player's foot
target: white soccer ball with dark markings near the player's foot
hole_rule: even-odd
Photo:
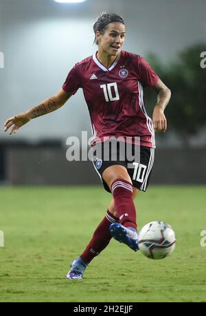
[[[176,239],[174,230],[162,221],[150,222],[139,233],[138,246],[144,256],[163,259],[174,251]]]

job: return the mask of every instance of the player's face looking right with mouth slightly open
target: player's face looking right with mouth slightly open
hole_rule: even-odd
[[[109,23],[104,34],[97,32],[99,50],[106,54],[116,56],[124,43],[125,25],[119,22]]]

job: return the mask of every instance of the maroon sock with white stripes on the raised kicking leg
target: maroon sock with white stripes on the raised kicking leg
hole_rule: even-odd
[[[137,229],[133,185],[128,181],[117,179],[111,185],[111,192],[115,200],[115,210],[119,216],[119,222],[125,227]]]

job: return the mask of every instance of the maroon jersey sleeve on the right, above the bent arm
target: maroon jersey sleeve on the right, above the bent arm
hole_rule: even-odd
[[[154,86],[159,80],[159,77],[157,76],[157,74],[155,74],[155,71],[152,69],[150,64],[143,57],[139,56],[138,66],[139,76],[143,86]]]

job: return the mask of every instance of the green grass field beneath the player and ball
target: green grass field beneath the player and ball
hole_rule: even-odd
[[[166,221],[176,249],[163,260],[112,240],[84,279],[65,275],[102,220],[102,187],[1,188],[0,302],[206,302],[206,187],[150,187],[135,201],[139,229]],[[206,243],[206,242],[205,242]]]

